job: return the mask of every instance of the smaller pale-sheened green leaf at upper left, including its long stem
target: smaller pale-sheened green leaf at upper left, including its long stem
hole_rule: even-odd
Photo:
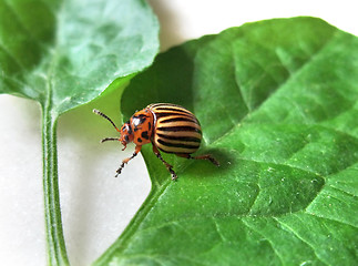
[[[58,117],[114,80],[109,90],[123,89],[152,63],[157,33],[144,0],[0,2],[0,93],[35,100],[42,109],[49,265],[69,264],[58,187]]]

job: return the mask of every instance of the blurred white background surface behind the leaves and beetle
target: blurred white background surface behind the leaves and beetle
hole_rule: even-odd
[[[162,51],[185,40],[245,22],[313,16],[358,35],[356,1],[151,0],[161,22]],[[59,173],[64,235],[72,265],[89,265],[121,234],[150,191],[142,156],[119,178],[114,171],[131,154],[106,121],[91,113],[108,106],[119,123],[116,95],[61,116]],[[143,106],[137,106],[141,109]],[[105,110],[102,110],[103,112]],[[83,117],[83,120],[82,120]],[[40,109],[35,102],[0,95],[0,264],[45,265]],[[84,122],[85,121],[85,122]],[[170,178],[170,176],[168,176]]]

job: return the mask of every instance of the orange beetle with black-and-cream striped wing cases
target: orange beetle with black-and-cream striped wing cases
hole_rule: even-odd
[[[154,154],[171,173],[172,180],[176,180],[177,175],[173,166],[164,161],[160,151],[185,158],[207,160],[219,166],[219,163],[211,154],[192,156],[201,145],[202,127],[195,115],[181,105],[172,103],[150,104],[135,112],[121,129],[116,127],[114,122],[101,111],[94,109],[93,112],[110,121],[114,129],[121,133],[120,137],[105,137],[101,141],[102,143],[120,141],[123,144],[122,151],[129,143],[135,144],[133,155],[122,161],[115,177],[121,174],[124,165],[139,154],[142,145],[149,143],[152,143]]]

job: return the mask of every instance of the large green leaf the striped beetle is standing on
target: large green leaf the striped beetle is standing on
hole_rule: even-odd
[[[173,182],[144,146],[152,191],[95,265],[354,265],[357,84],[357,37],[314,18],[249,23],[158,55],[123,93],[124,115],[186,106],[202,124],[200,153],[222,165],[162,154]]]

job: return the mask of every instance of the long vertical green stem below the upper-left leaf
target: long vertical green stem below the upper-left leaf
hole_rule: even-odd
[[[70,265],[62,231],[61,207],[58,180],[57,150],[58,115],[51,108],[42,109],[42,149],[43,149],[43,192],[44,216],[48,244],[48,265]]]

